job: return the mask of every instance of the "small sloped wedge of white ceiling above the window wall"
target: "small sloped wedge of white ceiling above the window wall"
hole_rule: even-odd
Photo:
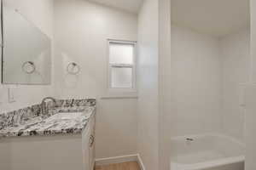
[[[143,0],[90,0],[113,8],[119,8],[130,13],[137,14]]]

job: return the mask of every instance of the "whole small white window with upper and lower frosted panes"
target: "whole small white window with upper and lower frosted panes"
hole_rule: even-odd
[[[136,42],[108,40],[109,88],[135,89]]]

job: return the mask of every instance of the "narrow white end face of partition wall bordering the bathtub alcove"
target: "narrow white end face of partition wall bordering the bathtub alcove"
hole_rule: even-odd
[[[161,170],[170,169],[172,79],[171,79],[171,1],[159,0],[159,107],[160,134],[159,159]]]

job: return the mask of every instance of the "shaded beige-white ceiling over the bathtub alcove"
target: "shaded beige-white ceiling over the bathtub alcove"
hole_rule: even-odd
[[[172,0],[172,22],[222,37],[250,24],[249,0]]]

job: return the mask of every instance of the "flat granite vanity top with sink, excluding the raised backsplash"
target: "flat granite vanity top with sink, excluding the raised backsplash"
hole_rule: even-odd
[[[26,121],[19,121],[20,123],[15,123],[15,119],[17,119],[15,115],[17,113],[11,114],[13,122],[9,126],[3,126],[0,129],[0,137],[82,133],[95,110],[96,105],[58,106],[49,111],[48,116],[42,116],[41,114],[38,116],[28,116]],[[9,118],[9,115],[6,117]]]

